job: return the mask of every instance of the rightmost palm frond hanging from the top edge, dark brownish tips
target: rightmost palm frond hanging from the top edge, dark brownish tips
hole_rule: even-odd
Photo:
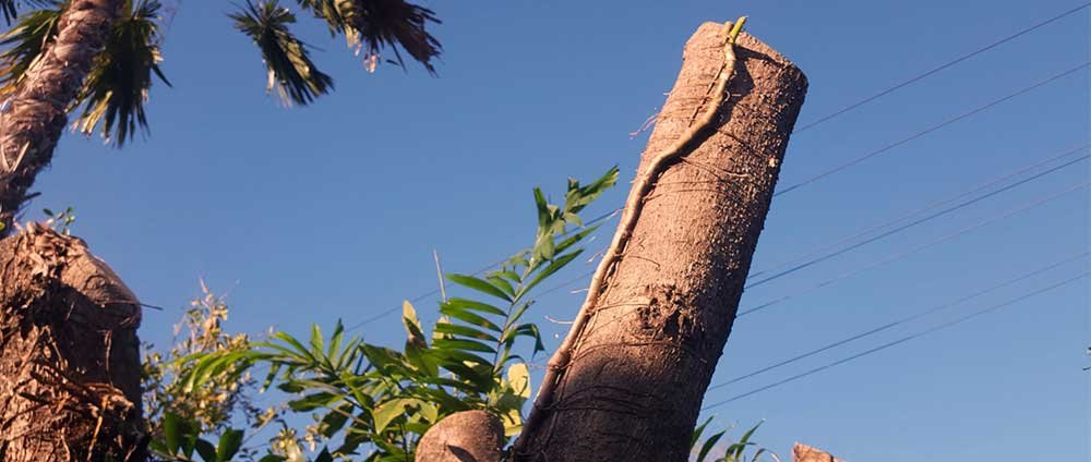
[[[326,21],[331,31],[345,34],[350,47],[362,52],[373,71],[384,48],[394,52],[395,64],[405,69],[398,48],[435,73],[432,59],[440,56],[440,41],[428,33],[429,23],[441,21],[432,10],[404,0],[297,0],[303,9]]]

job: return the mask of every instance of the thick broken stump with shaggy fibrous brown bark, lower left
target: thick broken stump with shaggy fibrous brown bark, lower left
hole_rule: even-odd
[[[140,304],[83,241],[0,241],[0,461],[143,460]]]

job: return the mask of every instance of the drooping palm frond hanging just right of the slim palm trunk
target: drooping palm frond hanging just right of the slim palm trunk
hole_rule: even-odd
[[[107,142],[121,147],[137,129],[148,130],[144,102],[152,88],[152,75],[170,86],[159,69],[158,0],[128,0],[103,52],[96,58],[84,88],[73,108],[84,105],[73,124],[91,135],[101,123]]]

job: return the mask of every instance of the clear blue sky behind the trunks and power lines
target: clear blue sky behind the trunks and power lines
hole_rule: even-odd
[[[367,74],[340,39],[301,34],[336,92],[286,109],[263,92],[256,50],[227,2],[181,4],[166,41],[173,88],[152,94],[152,136],[118,150],[67,135],[34,209],[74,205],[75,232],[146,311],[143,339],[170,340],[197,278],[230,292],[229,329],[302,333],[371,317],[532,240],[530,189],[619,166],[632,179],[682,45],[704,21],[747,29],[811,81],[800,122],[1080,4],[949,2],[430,1],[444,24],[439,77]],[[310,25],[307,25],[310,24]],[[793,136],[781,185],[904,138],[1089,58],[1087,10]],[[1087,70],[776,198],[764,268],[1088,141]],[[1088,162],[748,290],[742,306],[805,291],[1012,208],[1082,184]],[[588,216],[621,204],[607,194]],[[1086,252],[1087,190],[741,318],[715,382]],[[612,223],[608,226],[612,231]],[[609,239],[603,233],[592,251]],[[571,275],[590,269],[573,268]],[[1081,259],[966,305],[717,389],[716,402],[1075,276]],[[565,280],[562,275],[558,280]],[[574,285],[573,288],[576,288]],[[541,300],[553,348],[580,294]],[[709,411],[786,453],[805,441],[849,461],[1088,460],[1086,279],[859,361]],[[418,304],[434,318],[434,302]],[[397,317],[369,324],[401,340]]]

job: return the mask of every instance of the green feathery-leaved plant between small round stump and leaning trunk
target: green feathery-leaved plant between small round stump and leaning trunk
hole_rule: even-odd
[[[340,323],[328,336],[313,327],[307,340],[276,332],[250,348],[182,357],[181,390],[196,392],[209,380],[267,367],[263,389],[291,394],[287,405],[292,412],[313,415],[315,424],[303,440],[323,445],[322,453],[329,458],[411,460],[424,431],[467,410],[494,413],[506,434],[516,435],[531,391],[528,357],[519,353],[527,350],[533,357],[544,348],[538,327],[524,319],[533,304],[529,293],[580,254],[577,244],[592,229],[580,229],[578,212],[616,178],[618,170],[611,169],[587,186],[570,181],[563,205],[549,204],[535,190],[533,246],[482,277],[449,275],[471,295],[443,301],[431,335],[406,302],[400,350],[349,338]],[[299,442],[274,445],[274,453],[287,458]]]

